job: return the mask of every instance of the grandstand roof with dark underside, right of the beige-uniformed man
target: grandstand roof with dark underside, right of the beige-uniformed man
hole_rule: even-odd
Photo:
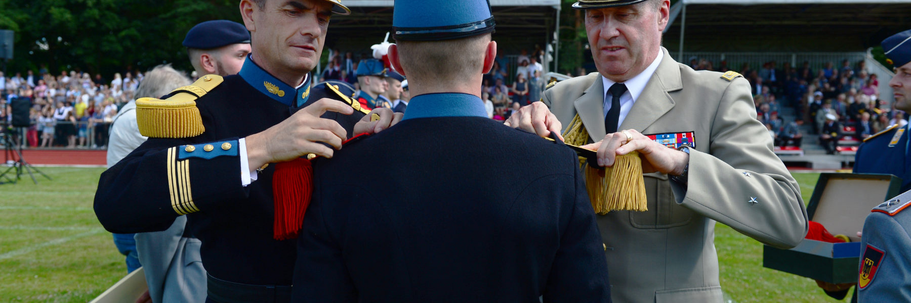
[[[673,51],[864,51],[911,29],[907,0],[680,0],[664,45]],[[681,32],[681,25],[683,31]]]

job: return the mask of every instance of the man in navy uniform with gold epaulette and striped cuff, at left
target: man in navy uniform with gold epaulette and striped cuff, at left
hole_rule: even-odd
[[[332,147],[389,126],[395,115],[378,109],[380,120],[371,122],[334,87],[310,87],[329,18],[350,13],[339,0],[240,6],[252,36],[240,74],[202,76],[166,100],[138,100],[139,130],[149,139],[102,174],[95,211],[119,233],[164,230],[189,215],[210,275],[207,301],[286,302],[295,242],[277,239],[293,234],[278,233],[289,222],[275,215],[273,190],[278,181],[302,182],[275,179],[276,167],[332,157]],[[278,37],[288,44],[268,43]]]

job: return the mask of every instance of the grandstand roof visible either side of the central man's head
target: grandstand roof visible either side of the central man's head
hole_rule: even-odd
[[[494,39],[500,54],[517,54],[535,45],[553,41],[558,30],[561,0],[490,0],[496,20]],[[394,0],[345,0],[351,15],[333,15],[326,47],[355,54],[367,53],[370,45],[383,42],[392,32]],[[390,42],[394,42],[392,37]]]

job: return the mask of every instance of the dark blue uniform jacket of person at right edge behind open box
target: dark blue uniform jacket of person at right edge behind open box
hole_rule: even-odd
[[[870,136],[857,149],[854,172],[891,174],[902,178],[902,192],[911,190],[911,150],[908,127],[892,127]]]

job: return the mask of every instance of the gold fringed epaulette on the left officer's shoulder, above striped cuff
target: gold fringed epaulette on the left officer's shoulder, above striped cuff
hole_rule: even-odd
[[[136,100],[136,122],[142,136],[181,138],[199,136],[206,131],[202,126],[196,99],[205,96],[224,79],[218,75],[202,76],[191,86],[182,86],[170,92],[168,99],[143,97]]]

